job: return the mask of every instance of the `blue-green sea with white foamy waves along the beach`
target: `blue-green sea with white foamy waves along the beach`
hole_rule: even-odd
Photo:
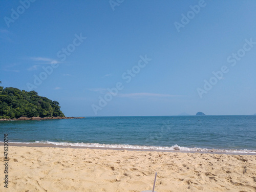
[[[256,115],[1,121],[0,142],[256,155]]]

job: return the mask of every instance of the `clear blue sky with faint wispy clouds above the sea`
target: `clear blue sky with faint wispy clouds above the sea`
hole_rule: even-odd
[[[1,1],[0,80],[66,116],[256,113],[256,1]]]

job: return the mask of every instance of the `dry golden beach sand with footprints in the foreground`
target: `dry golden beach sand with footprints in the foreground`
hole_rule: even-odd
[[[9,146],[0,191],[256,191],[256,156]],[[1,162],[4,156],[1,156]],[[4,165],[0,166],[1,179]]]

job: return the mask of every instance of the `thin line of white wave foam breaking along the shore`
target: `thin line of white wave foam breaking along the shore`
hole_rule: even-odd
[[[3,142],[1,142],[3,143]],[[79,146],[79,147],[103,147],[103,148],[127,148],[134,150],[161,150],[161,151],[184,151],[184,152],[217,152],[217,153],[250,153],[256,154],[256,150],[220,150],[220,149],[209,149],[209,148],[189,148],[179,145],[174,146],[146,146],[146,145],[129,145],[129,144],[100,144],[100,143],[69,143],[69,142],[52,142],[52,141],[36,141],[36,142],[13,142],[20,144],[53,144],[60,146]]]

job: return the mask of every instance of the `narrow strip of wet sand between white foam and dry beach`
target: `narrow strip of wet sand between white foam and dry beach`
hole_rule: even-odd
[[[0,142],[0,146],[4,142]],[[91,150],[114,150],[114,151],[138,151],[138,152],[166,152],[166,153],[199,153],[199,154],[224,154],[224,155],[249,155],[256,156],[256,153],[246,152],[218,152],[218,151],[182,151],[182,150],[153,150],[153,149],[139,149],[139,148],[117,148],[117,147],[93,147],[93,146],[72,146],[72,145],[55,145],[51,143],[8,143],[9,146],[26,146],[26,147],[53,147],[53,148],[80,148]]]

